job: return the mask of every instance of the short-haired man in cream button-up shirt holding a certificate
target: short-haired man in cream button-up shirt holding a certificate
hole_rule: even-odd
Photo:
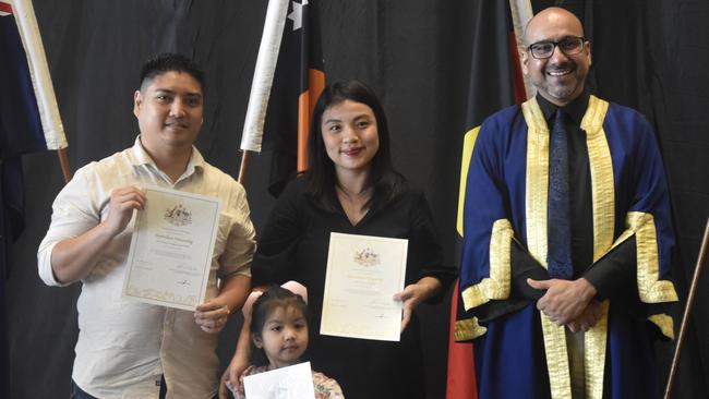
[[[254,229],[243,188],[193,146],[203,122],[203,75],[184,57],[149,60],[134,94],[135,144],[79,171],[53,203],[38,250],[49,286],[82,281],[72,398],[212,398],[217,332],[250,292]],[[219,197],[207,301],[194,313],[121,297],[141,188]]]

